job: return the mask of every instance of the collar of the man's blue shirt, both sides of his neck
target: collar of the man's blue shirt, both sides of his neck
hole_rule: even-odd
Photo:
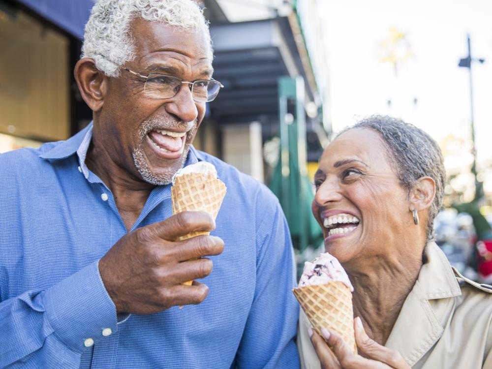
[[[84,177],[88,179],[89,168],[87,168],[86,165],[86,156],[92,140],[92,126],[93,122],[89,123],[87,127],[82,129],[74,136],[70,137],[68,140],[62,141],[54,148],[48,150],[43,154],[40,154],[39,157],[42,159],[59,160],[77,153],[79,157],[80,169],[84,174]],[[195,164],[198,161],[204,160],[205,159],[203,158],[202,153],[196,150],[193,145],[191,145],[184,166]]]

